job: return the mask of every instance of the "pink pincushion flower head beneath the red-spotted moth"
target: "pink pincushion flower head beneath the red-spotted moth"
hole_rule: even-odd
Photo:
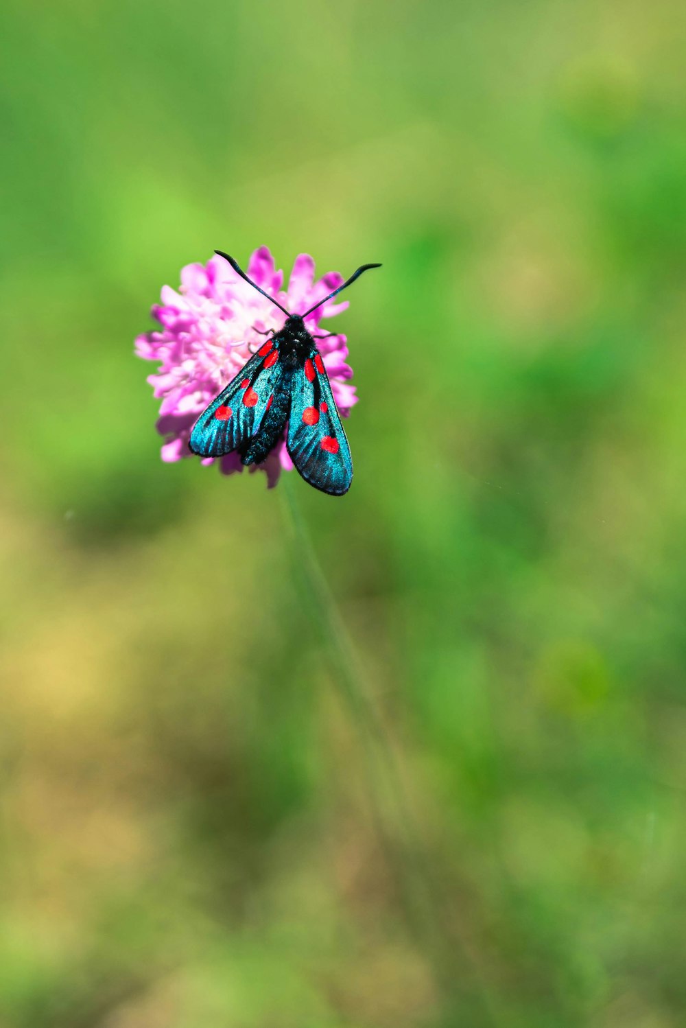
[[[267,247],[255,251],[247,274],[291,314],[307,310],[343,282],[338,271],[330,271],[315,282],[314,261],[301,254],[293,265],[288,289],[281,290],[283,272],[275,269]],[[260,333],[278,331],[284,317],[219,256],[211,257],[206,264],[187,264],[181,270],[179,291],[163,286],[161,300],[152,308],[161,330],[140,335],[136,353],[144,360],[160,362],[148,381],[155,397],[162,401],[157,420],[157,431],[165,439],[162,461],[174,462],[193,455],[188,439],[195,419],[262,345],[265,337]],[[316,335],[322,318],[340,314],[347,305],[345,300],[330,300],[308,315],[305,327]],[[336,405],[347,416],[357,397],[355,387],[348,381],[352,369],[346,364],[346,337],[332,335],[317,339],[316,344]],[[202,460],[202,464],[213,463],[214,457]],[[220,457],[219,465],[226,475],[243,469],[237,453]],[[267,460],[253,465],[251,471],[258,467],[266,471],[267,484],[275,485],[281,469],[293,469],[285,443],[277,443]]]

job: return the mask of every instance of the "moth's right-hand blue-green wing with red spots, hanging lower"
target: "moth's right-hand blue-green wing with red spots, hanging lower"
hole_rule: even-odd
[[[293,375],[287,447],[306,482],[333,497],[352,481],[352,458],[323,362],[312,350]]]

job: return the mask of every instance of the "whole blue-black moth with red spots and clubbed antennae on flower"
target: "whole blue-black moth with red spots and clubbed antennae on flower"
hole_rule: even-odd
[[[282,310],[287,320],[202,411],[191,431],[191,450],[199,456],[237,451],[244,465],[261,464],[288,425],[287,449],[305,481],[330,495],[343,495],[352,481],[350,447],[314,341],[326,337],[310,335],[304,320],[364,271],[381,265],[363,264],[304,315],[292,315],[249,279],[233,257],[221,250],[215,253]]]

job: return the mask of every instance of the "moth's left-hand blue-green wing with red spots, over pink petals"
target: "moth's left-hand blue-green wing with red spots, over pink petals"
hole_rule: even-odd
[[[202,411],[189,446],[199,456],[223,456],[247,443],[260,428],[282,365],[278,343],[268,339]]]

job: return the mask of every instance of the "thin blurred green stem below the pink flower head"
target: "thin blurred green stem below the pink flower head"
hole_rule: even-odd
[[[357,730],[377,828],[398,881],[409,928],[422,953],[430,959],[436,984],[446,998],[453,1001],[453,1004],[463,1008],[466,1004],[470,1008],[471,1020],[465,1028],[475,1028],[477,1024],[501,1025],[504,1022],[496,1016],[493,998],[471,948],[464,941],[456,941],[454,929],[446,929],[442,884],[421,842],[394,745],[366,687],[350,637],[312,548],[298,506],[296,489],[300,483],[295,478],[289,474],[281,476],[279,495],[293,544],[296,577],[302,586],[304,603],[328,647],[334,684]],[[470,986],[465,982],[465,971],[470,971]]]

